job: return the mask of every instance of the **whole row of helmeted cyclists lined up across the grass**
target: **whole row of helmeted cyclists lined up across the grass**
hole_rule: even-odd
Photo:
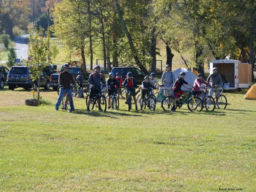
[[[193,94],[194,95],[200,95],[202,94],[200,87],[202,84],[207,85],[209,89],[209,96],[212,96],[213,93],[215,93],[215,98],[216,98],[216,103],[219,95],[219,87],[222,86],[222,78],[221,75],[218,74],[218,69],[216,67],[213,68],[213,74],[211,74],[208,78],[207,81],[205,82],[203,80],[203,74],[199,73],[197,76],[198,78],[195,79],[194,85],[189,84],[184,80],[186,73],[181,72],[180,76],[175,80],[174,75],[171,72],[171,66],[167,64],[165,66],[166,71],[163,72],[162,77],[161,77],[161,86],[164,86],[164,95],[170,95],[170,91],[172,90],[174,92],[175,99],[173,101],[173,106],[171,108],[171,111],[175,112],[175,105],[177,98],[180,95],[186,96],[186,93],[181,89],[184,84],[189,85],[193,88]],[[58,110],[61,99],[65,92],[68,92],[68,94],[71,96],[71,110],[75,110],[74,103],[73,103],[73,98],[72,98],[72,91],[70,87],[70,82],[74,85],[74,79],[72,75],[68,72],[69,66],[68,64],[63,65],[64,71],[60,73],[59,75],[59,85],[60,85],[60,93],[59,97],[57,99],[57,102],[55,104],[55,110]],[[94,67],[94,73],[92,73],[89,77],[89,84],[90,84],[90,93],[89,93],[89,100],[87,104],[87,111],[90,111],[89,106],[90,103],[92,102],[92,97],[96,94],[99,94],[101,91],[101,85],[106,85],[105,82],[105,76],[104,76],[104,71],[99,71],[100,66],[96,65]],[[80,72],[81,73],[81,72]],[[109,79],[107,80],[107,88],[108,88],[108,108],[110,109],[110,99],[112,94],[116,94],[120,96],[121,94],[121,88],[125,87],[126,88],[126,101],[125,104],[128,104],[128,94],[130,93],[131,96],[134,99],[135,102],[135,109],[138,110],[137,106],[137,101],[136,101],[136,95],[141,91],[141,99],[143,103],[143,100],[147,94],[149,94],[150,89],[158,89],[160,87],[157,79],[155,78],[155,73],[151,73],[150,77],[145,76],[144,81],[142,82],[141,86],[139,86],[139,90],[136,92],[135,89],[137,88],[137,83],[135,78],[133,77],[132,72],[127,73],[127,78],[123,81],[123,79],[120,77],[120,74],[117,73],[116,77],[114,73],[109,73]],[[81,86],[83,86],[83,77],[81,74],[78,72],[78,76],[76,78],[77,82],[80,83]],[[184,86],[187,88],[186,86]],[[82,87],[83,88],[83,87]],[[98,102],[98,101],[97,101]],[[142,105],[140,106],[140,110],[142,110]],[[207,105],[207,107],[209,107]],[[99,110],[100,105],[99,105]]]

